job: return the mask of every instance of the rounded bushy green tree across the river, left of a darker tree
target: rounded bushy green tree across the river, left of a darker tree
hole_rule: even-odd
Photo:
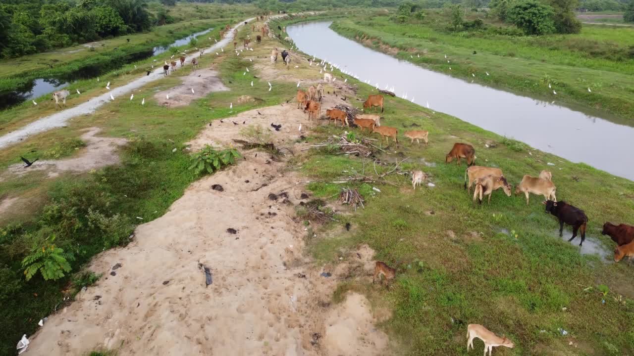
[[[555,31],[553,8],[536,0],[520,0],[508,8],[507,21],[529,35],[550,34]]]

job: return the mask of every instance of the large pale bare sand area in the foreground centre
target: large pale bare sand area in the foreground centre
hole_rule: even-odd
[[[306,201],[304,182],[284,161],[302,154],[299,124],[314,122],[292,104],[259,108],[213,122],[192,147],[227,146],[245,127],[232,121],[281,124],[274,142],[292,154],[243,152],[238,165],[195,182],[163,217],[139,226],[129,246],[95,257],[89,269],[101,280],[49,317],[27,355],[384,354],[387,336],[373,326],[364,296],[330,305],[345,268],[321,277],[303,255],[303,224],[292,220],[294,205]],[[199,262],[211,270],[208,287]]]

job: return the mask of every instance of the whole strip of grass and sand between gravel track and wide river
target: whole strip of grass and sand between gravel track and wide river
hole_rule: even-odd
[[[238,38],[254,37],[249,30],[240,32]],[[407,158],[401,163],[402,170],[422,169],[430,174],[425,184],[434,186],[413,191],[403,175],[387,177],[389,183],[353,179],[355,172],[372,175],[374,169],[380,174],[389,168],[370,159],[342,155],[336,146],[318,149],[309,148],[310,144],[352,131],[355,137],[375,139],[372,142],[377,145],[377,134],[335,128],[325,120],[319,125],[308,122],[306,114],[295,109],[297,82],[306,89],[321,82],[323,74],[307,61],[312,56],[293,50],[291,68],[271,64],[268,56],[273,47],[290,46],[264,39],[254,45],[254,51],[240,56],[226,51],[219,57],[204,57],[200,71],[206,67],[217,70],[229,91],[213,92],[179,107],[154,99],[157,92],[182,86],[181,76],[190,75],[186,68],[139,88],[133,101],[124,98],[107,103],[92,115],[75,118],[68,127],[29,137],[12,146],[11,156],[7,150],[0,152],[3,162],[15,160],[15,154],[29,153],[41,143],[61,137],[79,137],[83,129],[94,126],[103,128],[103,136],[129,141],[118,151],[119,165],[57,178],[33,172],[0,182],[3,203],[6,198],[18,198],[13,204],[27,205],[32,213],[9,219],[0,234],[0,277],[3,285],[10,286],[0,295],[0,329],[10,331],[2,336],[2,352],[15,353],[16,340],[23,333],[30,337],[41,317],[54,308],[68,307],[61,291],[69,279],[45,282],[36,276],[28,283],[23,280],[20,262],[30,246],[46,243],[44,238],[57,234],[55,244],[77,255],[75,272],[96,253],[125,245],[129,232],[141,223],[131,236],[131,246],[108,250],[93,260],[89,270],[104,275],[96,282],[77,281],[72,286],[70,295],[83,285],[96,283],[77,296],[68,314],[60,312],[49,318],[41,332],[48,337],[31,339],[34,351],[49,345],[38,344],[39,340],[49,340],[60,353],[67,346],[101,349],[111,345],[126,354],[177,347],[190,353],[204,348],[208,352],[281,354],[289,350],[282,346],[290,341],[294,341],[290,350],[306,355],[358,352],[330,348],[333,344],[327,340],[337,334],[335,346],[362,346],[368,355],[453,356],[464,354],[465,327],[472,322],[506,334],[517,345],[510,350],[515,354],[623,354],[631,350],[634,290],[628,281],[632,271],[624,263],[603,262],[609,259],[612,243],[600,236],[602,221],[627,222],[634,216],[631,181],[391,97],[385,98],[382,124],[398,128],[401,142],[398,146],[392,143],[389,149],[372,148],[375,156],[386,164]],[[335,76],[336,82],[325,84],[323,109],[335,103],[360,108],[363,99],[375,93],[373,87],[337,70]],[[139,98],[146,98],[145,105]],[[223,146],[230,144],[230,138],[250,120],[266,128],[282,124],[281,132],[272,127],[267,132],[276,143],[290,146],[288,152],[294,154],[287,153],[280,163],[270,152],[249,151],[240,165],[204,179],[188,170],[191,151],[216,140]],[[300,123],[304,124],[302,134]],[[429,146],[406,142],[403,131],[413,128],[429,130]],[[496,147],[487,148],[489,140]],[[513,183],[523,174],[552,170],[557,197],[585,209],[590,217],[584,246],[597,250],[582,250],[590,253],[580,255],[576,245],[558,238],[557,222],[543,212],[540,197],[531,196],[527,207],[521,196],[508,198],[496,192],[490,205],[475,207],[462,188],[465,166],[444,164],[444,155],[458,141],[474,144],[477,162],[498,165]],[[293,148],[309,149],[300,154]],[[75,155],[81,153],[82,148]],[[213,184],[221,184],[224,190],[212,189]],[[306,200],[301,194],[298,198],[303,190],[298,187],[307,189],[309,200],[319,199],[309,207],[321,212],[335,210],[335,220],[318,223],[319,218],[298,203]],[[341,205],[336,197],[344,187],[359,189],[365,208],[355,212]],[[281,191],[287,192],[293,206],[279,196],[279,203],[268,196]],[[224,209],[229,208],[235,213],[227,214]],[[295,215],[292,209],[297,209]],[[223,223],[216,224],[210,217],[223,219]],[[230,227],[238,230],[235,235],[227,231]],[[376,250],[364,248],[364,243]],[[169,264],[162,264],[164,259]],[[391,288],[372,284],[373,260],[398,267]],[[119,262],[122,265],[113,270]],[[213,283],[207,288],[198,262],[211,269]],[[368,263],[370,269],[365,267]],[[600,284],[609,288],[605,295],[598,292],[605,290]],[[586,288],[590,286],[593,289]],[[353,293],[365,295],[356,307],[370,310],[364,315],[371,312],[363,324],[349,323],[354,318],[340,313],[347,306],[342,302]],[[152,303],[147,302],[148,295]],[[255,302],[253,295],[257,296]],[[382,322],[374,324],[372,315]],[[75,326],[75,320],[81,324]],[[219,333],[214,326],[223,322],[232,328],[250,327]],[[58,323],[60,327],[56,327]],[[74,332],[60,333],[66,326]],[[390,337],[387,349],[378,347],[377,327]],[[558,329],[565,329],[566,335]],[[76,338],[75,331],[90,333],[91,338]],[[164,343],[172,339],[176,340]],[[481,345],[476,343],[474,352],[482,352]]]

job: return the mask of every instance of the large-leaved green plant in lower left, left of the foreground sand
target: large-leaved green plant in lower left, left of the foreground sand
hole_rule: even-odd
[[[53,241],[55,241],[55,235],[51,237],[50,245],[34,248],[31,254],[22,260],[27,281],[35,276],[38,270],[46,281],[49,279],[55,281],[65,276],[64,273],[70,272],[70,261],[75,260],[73,254],[56,247]]]

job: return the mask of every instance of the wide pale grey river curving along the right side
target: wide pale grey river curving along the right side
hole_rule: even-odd
[[[362,81],[369,79],[380,89],[394,87],[398,96],[407,94],[418,105],[429,104],[432,110],[542,151],[634,180],[634,165],[614,155],[630,150],[633,127],[560,106],[556,98],[550,103],[426,70],[346,39],[329,29],[330,23],[300,23],[287,32],[305,53],[335,63]],[[553,163],[551,169],[556,170]]]

